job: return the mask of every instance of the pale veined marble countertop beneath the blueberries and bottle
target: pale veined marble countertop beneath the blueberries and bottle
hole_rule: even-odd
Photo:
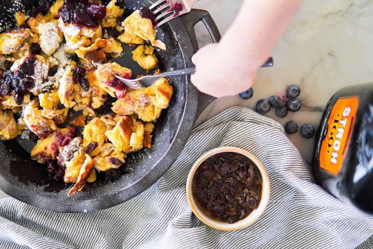
[[[234,19],[242,0],[201,0],[197,9],[211,13],[223,34]],[[238,96],[215,100],[201,114],[197,124],[231,106],[253,108],[258,99],[282,95],[286,85],[301,87],[301,111],[277,118],[281,124],[289,120],[298,124],[319,125],[321,110],[339,88],[373,81],[373,2],[370,0],[305,0],[288,31],[273,52],[275,66],[260,69],[254,84],[254,96],[242,100]],[[196,33],[203,46],[210,42],[207,31],[197,25]],[[311,161],[314,139],[299,133],[289,136],[306,161]],[[0,191],[0,198],[6,196]]]

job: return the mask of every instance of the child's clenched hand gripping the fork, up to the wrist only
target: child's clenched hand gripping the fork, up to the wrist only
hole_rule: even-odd
[[[192,57],[196,72],[192,83],[203,93],[214,97],[232,96],[249,89],[256,79],[256,68],[250,70],[239,56],[229,54],[219,43],[209,44]]]

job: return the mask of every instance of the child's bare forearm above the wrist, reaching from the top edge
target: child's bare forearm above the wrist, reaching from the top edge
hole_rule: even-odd
[[[223,36],[220,47],[234,66],[256,70],[270,56],[301,6],[301,0],[245,0],[237,18]],[[228,49],[229,48],[229,49]]]

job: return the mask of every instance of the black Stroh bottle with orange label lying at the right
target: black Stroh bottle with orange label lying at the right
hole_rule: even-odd
[[[373,83],[342,88],[329,100],[313,174],[331,194],[373,214]]]

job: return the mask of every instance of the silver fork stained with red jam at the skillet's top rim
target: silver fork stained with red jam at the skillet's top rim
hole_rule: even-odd
[[[190,12],[192,9],[192,6],[197,1],[199,0],[159,0],[159,1],[156,1],[152,6],[149,7],[149,9],[154,9],[158,5],[164,3],[163,5],[159,6],[157,9],[153,10],[154,15],[164,10],[164,12],[162,12],[160,15],[156,17],[156,21],[159,21],[159,19],[163,18],[164,16],[167,16],[170,13],[172,15],[168,16],[167,18],[159,22],[159,24],[155,25],[154,29],[158,28],[160,25],[165,24],[166,22],[178,16],[181,16],[181,15],[184,15]],[[175,6],[182,8],[182,10],[180,11],[176,10]]]

